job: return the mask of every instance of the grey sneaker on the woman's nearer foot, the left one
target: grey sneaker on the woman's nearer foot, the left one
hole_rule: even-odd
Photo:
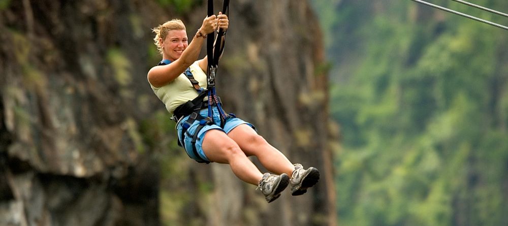
[[[268,203],[273,202],[280,196],[289,184],[289,176],[285,173],[277,176],[270,173],[263,174],[263,178],[259,181],[258,188],[261,188],[261,193],[265,195]]]

